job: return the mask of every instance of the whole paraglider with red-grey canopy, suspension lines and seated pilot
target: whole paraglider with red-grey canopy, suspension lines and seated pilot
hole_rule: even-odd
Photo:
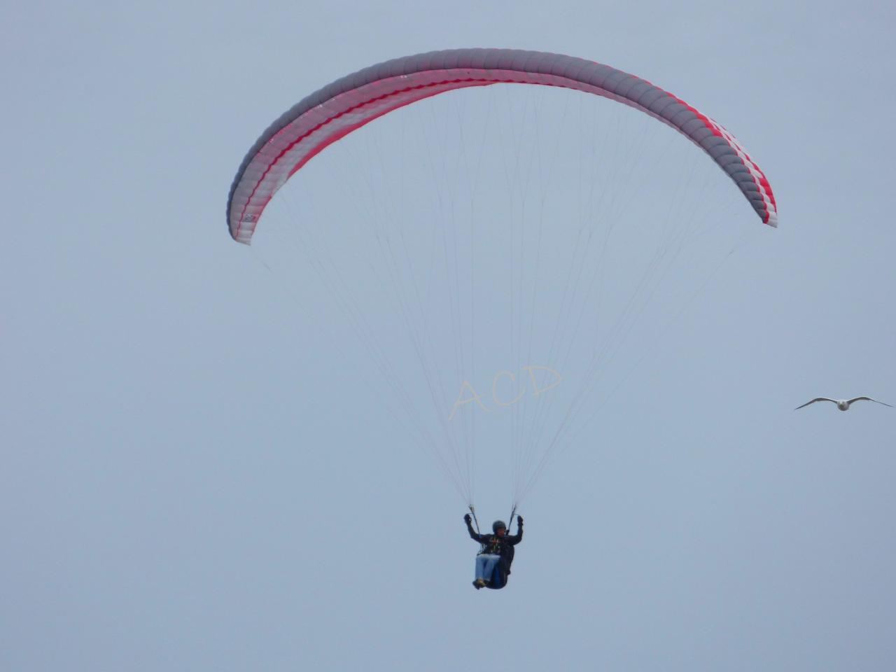
[[[698,155],[694,161],[699,163],[698,168],[685,168],[676,161],[674,152],[671,160],[676,162],[668,167],[654,160],[653,154],[639,161],[643,157],[627,146],[600,153],[590,146],[586,132],[594,137],[603,132],[607,142],[616,138],[625,142],[636,136],[647,151],[658,148],[650,134],[622,133],[619,125],[601,125],[598,116],[591,125],[580,124],[580,135],[572,124],[542,125],[542,116],[536,113],[527,117],[527,108],[523,107],[518,124],[508,124],[502,118],[490,126],[487,116],[479,115],[474,125],[477,133],[461,133],[458,141],[452,142],[443,140],[452,126],[432,123],[430,117],[435,114],[417,118],[410,114],[401,117],[403,113],[398,112],[436,96],[440,102],[431,104],[432,108],[448,105],[442,101],[452,100],[449,92],[453,90],[502,88],[492,86],[495,84],[539,85],[523,88],[590,94],[579,96],[579,104],[582,99],[615,101],[607,108],[625,106],[625,113],[636,117],[636,123],[643,120],[644,125],[653,126],[650,118],[658,120],[699,147],[710,160],[703,160],[675,134],[668,135],[685,145],[686,151]],[[439,96],[443,93],[448,95]],[[573,98],[570,94],[550,95],[565,96],[567,103]],[[426,108],[426,104],[415,107]],[[506,114],[519,109],[521,106],[506,106],[502,111]],[[709,166],[707,171],[714,171],[714,178],[719,177],[715,168],[720,168],[736,187],[729,191],[737,202],[737,214],[743,211],[745,219],[752,220],[752,213],[744,207],[746,199],[769,227],[778,225],[775,196],[762,169],[727,129],[640,77],[573,56],[464,48],[372,65],[324,86],[290,108],[261,134],[237,170],[228,195],[229,235],[250,245],[269,202],[290,177],[334,143],[328,153],[338,153],[343,142],[350,147],[351,140],[339,142],[342,138],[379,117],[386,117],[385,123],[395,116],[407,122],[401,124],[399,134],[374,142],[370,151],[356,152],[351,160],[340,163],[332,171],[338,182],[332,190],[329,182],[316,193],[308,190],[308,200],[314,195],[322,200],[321,207],[314,211],[323,211],[324,217],[318,221],[306,212],[305,219],[292,222],[297,229],[295,249],[307,255],[308,267],[331,292],[332,305],[346,318],[346,332],[354,332],[366,347],[365,355],[378,368],[383,389],[393,395],[395,415],[403,414],[416,443],[433,453],[470,511],[474,449],[477,445],[509,447],[508,459],[499,467],[506,466],[513,481],[509,520],[513,522],[517,504],[530,493],[547,464],[572,442],[577,431],[581,432],[582,426],[575,426],[575,421],[584,418],[587,422],[596,413],[598,404],[593,401],[597,381],[607,375],[623,341],[632,338],[633,325],[646,306],[671,288],[676,275],[670,272],[672,264],[678,260],[687,271],[687,280],[693,281],[699,291],[705,276],[701,279],[698,272],[704,267],[692,262],[702,261],[699,253],[703,248],[693,245],[694,240],[702,243],[713,226],[728,230],[732,224],[730,213],[701,211],[719,202],[720,194],[698,198],[695,205],[685,201],[684,188],[674,186],[668,201],[662,196],[644,197],[648,187],[643,186],[647,180],[642,164],[657,168],[662,177],[680,175],[685,186],[693,185],[694,190],[702,180],[692,180],[692,174],[703,164]],[[461,116],[456,115],[458,119]],[[456,120],[452,118],[452,123]],[[405,132],[415,130],[415,125],[422,129],[422,142],[406,142]],[[557,129],[558,133],[572,128],[572,148],[578,162],[570,160],[576,153],[555,151],[560,144],[551,141],[556,138],[544,141],[548,151],[541,151],[545,149],[541,146],[530,155],[520,151],[524,143],[517,141],[530,125],[535,129],[532,135],[536,144],[539,134],[547,133],[546,128]],[[504,134],[510,136],[506,142],[513,143],[513,151],[500,156],[485,151],[491,147],[489,142],[504,139]],[[468,148],[468,142],[479,140],[476,147]],[[420,168],[406,168],[402,163],[394,170],[386,165],[393,153],[399,154],[402,149],[413,153],[419,148],[423,149],[415,155],[418,160],[413,165]],[[444,154],[452,148],[457,155],[445,159]],[[363,173],[358,180],[360,186],[351,185],[345,173],[353,168],[364,170],[359,168],[363,154],[372,157],[375,169]],[[561,159],[556,160],[557,156]],[[483,168],[489,159],[494,162],[490,172],[488,166]],[[555,159],[555,163],[550,164],[548,159]],[[563,177],[560,168],[573,165],[579,166],[578,171],[572,177]],[[521,167],[525,169],[518,169]],[[605,169],[606,174],[599,173]],[[314,175],[314,168],[310,172]],[[304,175],[308,175],[307,168]],[[424,184],[424,177],[431,182]],[[492,196],[502,177],[510,184],[508,198],[501,209],[492,211],[487,226],[482,226],[485,218],[479,212],[486,208],[481,205],[481,193]],[[628,185],[642,189],[640,194],[633,194],[633,201],[657,204],[649,216],[629,222],[636,226],[616,226],[616,220],[631,216],[631,209],[623,201],[628,190],[617,188],[625,186],[622,177],[629,177]],[[560,194],[560,207],[545,216],[546,198],[541,194],[542,189],[547,191],[550,180],[555,181]],[[724,178],[718,181],[726,183]],[[332,211],[343,201],[360,200],[352,193],[353,186],[372,204],[358,207],[358,220],[351,220],[351,215],[334,217]],[[391,200],[384,195],[387,189],[381,188],[389,186],[398,194]],[[461,202],[456,196],[464,187],[470,190],[469,202]],[[637,188],[631,191],[637,192]],[[430,194],[435,194],[432,201],[437,202],[434,216],[420,216]],[[538,200],[537,207],[526,201],[529,194],[538,194],[538,198],[532,197]],[[602,202],[605,194],[607,202]],[[358,221],[361,223],[355,226]],[[655,227],[656,236],[650,227]],[[331,231],[332,242],[322,244],[315,238]],[[626,246],[627,236],[633,237],[630,246]],[[718,249],[728,255],[734,246]],[[620,251],[622,254],[616,254]],[[374,267],[376,253],[381,254],[382,265]],[[348,262],[349,273],[339,268],[338,262],[343,260]],[[289,263],[291,267],[299,265],[291,259]],[[369,282],[358,277],[368,265]],[[617,289],[616,282],[623,289]],[[695,294],[691,292],[690,296]],[[648,336],[654,340],[662,327],[682,312],[689,293],[682,289],[668,296],[678,303],[663,306],[667,310],[663,322],[647,325]],[[656,302],[661,303],[661,299]],[[366,314],[368,307],[376,310],[373,306],[394,310],[388,315],[385,311]],[[401,319],[392,319],[394,316]],[[385,331],[385,338],[377,338],[383,333],[377,330],[388,330],[392,323],[400,323],[405,333]],[[402,340],[402,336],[406,338]],[[643,355],[639,353],[639,357]],[[495,375],[483,374],[483,360],[488,358],[495,366],[487,371],[497,371]],[[567,363],[568,368],[564,366]],[[386,403],[387,396],[383,395]],[[420,401],[426,402],[425,412]],[[476,413],[484,419],[475,419]],[[504,419],[506,425],[499,427]],[[505,432],[505,428],[510,431]],[[492,435],[482,440],[485,432]],[[517,517],[519,530],[513,536],[507,534],[503,521],[495,521],[492,534],[479,534],[473,530],[470,515],[465,520],[470,537],[483,545],[474,585],[477,589],[503,588],[514,547],[522,538],[522,518]]]

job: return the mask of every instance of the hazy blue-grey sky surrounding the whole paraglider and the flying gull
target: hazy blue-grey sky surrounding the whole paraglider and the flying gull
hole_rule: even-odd
[[[792,410],[896,399],[891,3],[0,19],[0,668],[892,668],[896,416]],[[737,134],[780,205],[599,444],[542,478],[487,594],[444,476],[225,226],[282,111],[461,46],[656,82]]]

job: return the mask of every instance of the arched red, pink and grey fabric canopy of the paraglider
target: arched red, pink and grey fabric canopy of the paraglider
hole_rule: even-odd
[[[688,137],[724,170],[762,222],[778,224],[771,185],[732,134],[666,90],[573,56],[520,49],[450,49],[372,65],[328,84],[280,116],[246,154],[230,187],[228,228],[248,244],[273,194],[299,168],[378,116],[444,91],[495,83],[581,90],[641,110]]]

